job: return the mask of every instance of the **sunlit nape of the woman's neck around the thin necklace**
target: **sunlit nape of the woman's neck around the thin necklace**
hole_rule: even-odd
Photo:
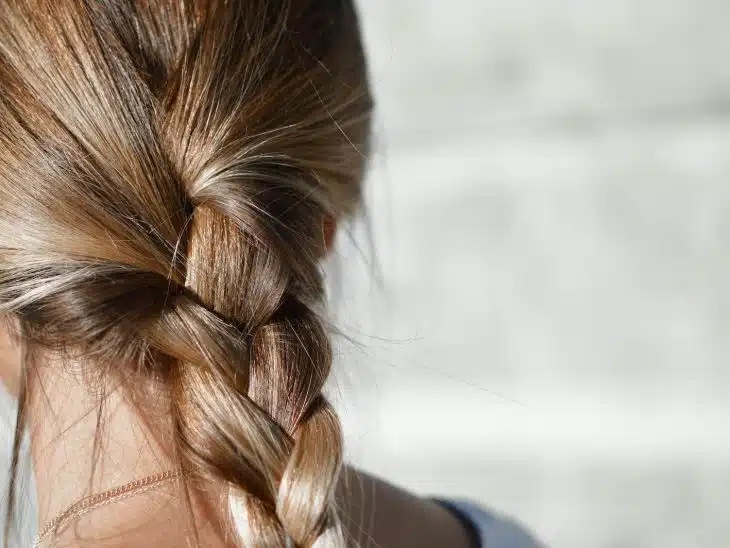
[[[38,373],[29,379],[33,389],[28,424],[39,528],[85,496],[177,468],[170,456],[166,398],[147,398],[144,416],[151,419],[144,421],[123,390],[109,387],[101,396],[93,393],[81,368],[74,365],[44,363],[34,368]],[[141,545],[139,535],[143,544],[151,545],[150,534],[160,538],[158,546],[187,545],[180,542],[187,533],[180,520],[186,507],[179,486],[172,482],[95,510],[79,521],[74,534],[110,541],[118,537],[115,547]],[[218,528],[206,519],[210,515],[197,504],[200,501],[191,502],[199,533],[217,536]],[[119,537],[129,540],[120,544]],[[219,544],[210,539],[201,545]]]

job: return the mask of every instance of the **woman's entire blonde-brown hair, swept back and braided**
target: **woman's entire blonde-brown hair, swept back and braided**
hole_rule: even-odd
[[[0,0],[0,312],[26,367],[158,380],[241,545],[344,543],[320,259],[360,202],[366,72],[351,0]]]

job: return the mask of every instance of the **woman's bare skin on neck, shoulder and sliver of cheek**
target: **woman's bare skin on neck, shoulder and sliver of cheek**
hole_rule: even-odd
[[[43,386],[30,403],[31,444],[42,526],[67,506],[88,494],[91,456],[97,428],[97,396],[89,394],[81,376],[48,363],[32,379]],[[18,352],[0,333],[0,375],[7,389],[17,389]],[[99,493],[136,479],[174,468],[165,449],[166,425],[154,425],[151,436],[132,405],[119,392],[106,398],[101,440],[103,458],[92,492]],[[162,415],[164,416],[164,414]],[[160,441],[156,441],[159,439]],[[153,441],[154,440],[154,441]],[[340,497],[343,516],[355,546],[383,548],[467,548],[461,524],[437,504],[354,468],[346,468]],[[179,548],[195,546],[178,484],[169,484],[94,510],[45,547]],[[222,490],[206,486],[206,497],[194,497],[193,516],[200,546],[231,548],[220,510]],[[210,493],[214,493],[210,495]]]

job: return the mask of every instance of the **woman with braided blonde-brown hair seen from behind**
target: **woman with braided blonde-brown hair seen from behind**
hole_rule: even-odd
[[[2,364],[36,546],[531,545],[342,466],[320,260],[371,111],[348,0],[0,1]]]

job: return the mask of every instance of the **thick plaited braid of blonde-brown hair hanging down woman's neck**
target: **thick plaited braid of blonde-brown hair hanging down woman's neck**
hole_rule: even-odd
[[[321,395],[326,333],[274,250],[225,215],[197,207],[188,238],[186,290],[197,301],[177,296],[152,327],[156,347],[180,363],[172,402],[182,453],[233,487],[247,546],[311,546],[334,525],[342,458]]]

